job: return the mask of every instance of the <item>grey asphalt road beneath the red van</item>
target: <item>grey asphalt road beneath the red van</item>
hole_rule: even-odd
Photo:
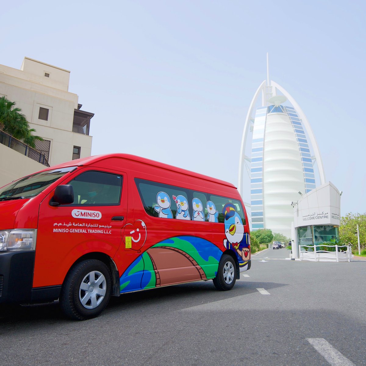
[[[131,293],[89,321],[57,302],[0,308],[0,365],[366,365],[366,261],[288,256],[253,255],[231,291]]]

